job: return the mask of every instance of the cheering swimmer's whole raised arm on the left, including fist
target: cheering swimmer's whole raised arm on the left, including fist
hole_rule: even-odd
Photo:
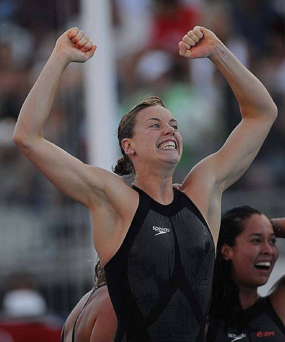
[[[86,62],[96,50],[92,41],[77,27],[63,33],[28,94],[14,132],[14,142],[44,175],[65,195],[85,206],[100,196],[108,177],[119,177],[110,172],[89,166],[66,153],[43,137],[60,77],[71,62]]]

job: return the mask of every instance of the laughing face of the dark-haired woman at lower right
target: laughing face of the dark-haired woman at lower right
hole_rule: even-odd
[[[232,262],[232,278],[239,287],[258,287],[266,284],[278,258],[275,234],[264,214],[251,215],[243,228],[226,258]]]

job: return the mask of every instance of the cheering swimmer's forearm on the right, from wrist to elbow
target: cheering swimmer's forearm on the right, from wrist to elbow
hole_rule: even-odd
[[[222,42],[209,58],[230,84],[243,118],[276,118],[277,108],[268,91]]]

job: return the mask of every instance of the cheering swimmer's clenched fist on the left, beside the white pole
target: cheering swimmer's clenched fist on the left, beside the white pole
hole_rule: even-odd
[[[96,48],[97,46],[93,45],[84,31],[73,27],[58,38],[54,52],[64,55],[67,63],[84,63],[94,55]]]

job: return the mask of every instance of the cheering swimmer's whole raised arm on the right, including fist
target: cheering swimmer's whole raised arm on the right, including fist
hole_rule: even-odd
[[[277,107],[263,84],[210,30],[196,26],[179,42],[179,53],[188,58],[208,57],[230,84],[239,103],[241,122],[222,148],[198,163],[182,187],[202,177],[205,190],[222,193],[250,166],[277,116]],[[200,176],[199,176],[200,175]],[[198,182],[199,183],[199,182]]]

